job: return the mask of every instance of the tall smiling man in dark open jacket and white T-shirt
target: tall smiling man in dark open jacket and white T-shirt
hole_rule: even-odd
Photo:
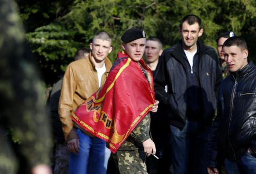
[[[206,148],[222,72],[215,50],[198,40],[203,32],[198,16],[185,16],[181,40],[164,50],[154,78],[156,99],[167,106],[171,122],[174,174],[207,173]]]

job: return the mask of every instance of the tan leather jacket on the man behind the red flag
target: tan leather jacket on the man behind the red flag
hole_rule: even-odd
[[[61,96],[59,99],[59,117],[66,141],[78,138],[73,129],[72,114],[76,108],[89,96],[99,89],[98,75],[95,65],[92,63],[91,53],[85,59],[70,63],[63,77]],[[105,60],[106,72],[102,75],[101,85],[112,66],[110,60]]]

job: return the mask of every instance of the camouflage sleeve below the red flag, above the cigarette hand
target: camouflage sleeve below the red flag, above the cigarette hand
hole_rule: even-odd
[[[147,139],[150,138],[149,127],[150,127],[150,114],[148,113],[134,128],[134,130],[132,130],[130,136],[134,137],[134,139],[138,142],[146,141]]]

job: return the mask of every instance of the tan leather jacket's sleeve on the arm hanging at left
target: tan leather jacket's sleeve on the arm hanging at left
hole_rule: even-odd
[[[67,66],[65,75],[63,77],[63,84],[61,88],[61,96],[59,99],[59,116],[62,122],[62,130],[66,141],[78,138],[73,129],[72,113],[74,92],[76,89],[76,81],[74,73],[70,66]]]

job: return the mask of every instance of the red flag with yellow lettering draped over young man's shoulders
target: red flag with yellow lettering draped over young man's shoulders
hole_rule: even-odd
[[[118,53],[105,84],[81,104],[72,119],[88,133],[109,143],[111,152],[126,140],[154,104],[153,75],[143,59],[138,62]]]

